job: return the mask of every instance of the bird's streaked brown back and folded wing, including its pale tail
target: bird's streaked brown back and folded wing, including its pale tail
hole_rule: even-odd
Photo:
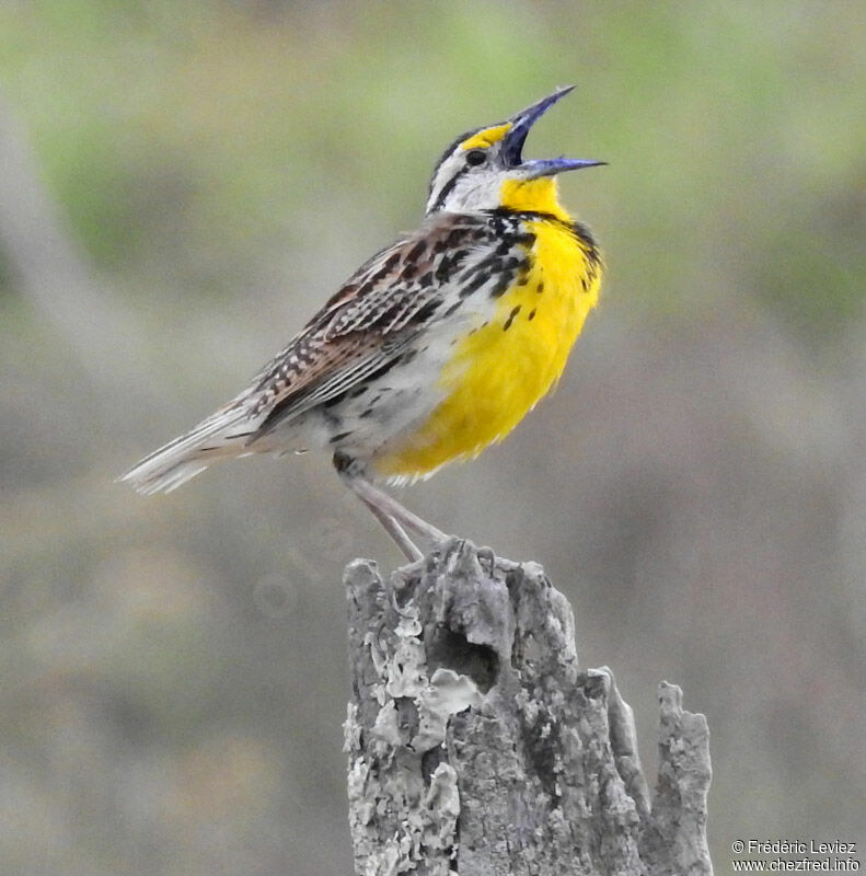
[[[145,493],[174,489],[216,459],[256,452],[278,425],[392,368],[449,285],[493,288],[496,257],[505,256],[498,222],[495,215],[439,214],[377,253],[246,390],[122,480]]]

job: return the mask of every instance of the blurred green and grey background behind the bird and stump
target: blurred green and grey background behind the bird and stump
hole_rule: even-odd
[[[113,483],[420,216],[462,130],[609,264],[555,397],[403,493],[575,608],[655,766],[706,713],[735,839],[866,841],[866,7],[0,3],[0,869],[348,873],[344,564],[399,555],[323,457]]]

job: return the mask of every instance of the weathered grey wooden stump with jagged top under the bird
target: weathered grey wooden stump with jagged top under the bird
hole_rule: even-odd
[[[712,874],[706,721],[660,685],[650,808],[632,710],[609,669],[578,668],[539,565],[452,539],[346,584],[357,874]]]

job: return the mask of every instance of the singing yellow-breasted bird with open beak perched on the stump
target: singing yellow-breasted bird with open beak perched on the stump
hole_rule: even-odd
[[[573,89],[460,135],[417,230],[361,265],[246,389],[118,480],[169,493],[218,460],[322,449],[409,561],[423,556],[413,538],[443,540],[377,483],[427,479],[505,438],[598,302],[599,246],[557,176],[607,162],[523,157]]]

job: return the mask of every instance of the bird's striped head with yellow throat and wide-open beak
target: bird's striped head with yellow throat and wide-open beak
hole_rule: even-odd
[[[556,174],[604,162],[576,158],[523,159],[522,152],[530,128],[571,88],[557,89],[506,122],[458,137],[434,171],[427,216],[497,208],[562,212],[556,198]]]

